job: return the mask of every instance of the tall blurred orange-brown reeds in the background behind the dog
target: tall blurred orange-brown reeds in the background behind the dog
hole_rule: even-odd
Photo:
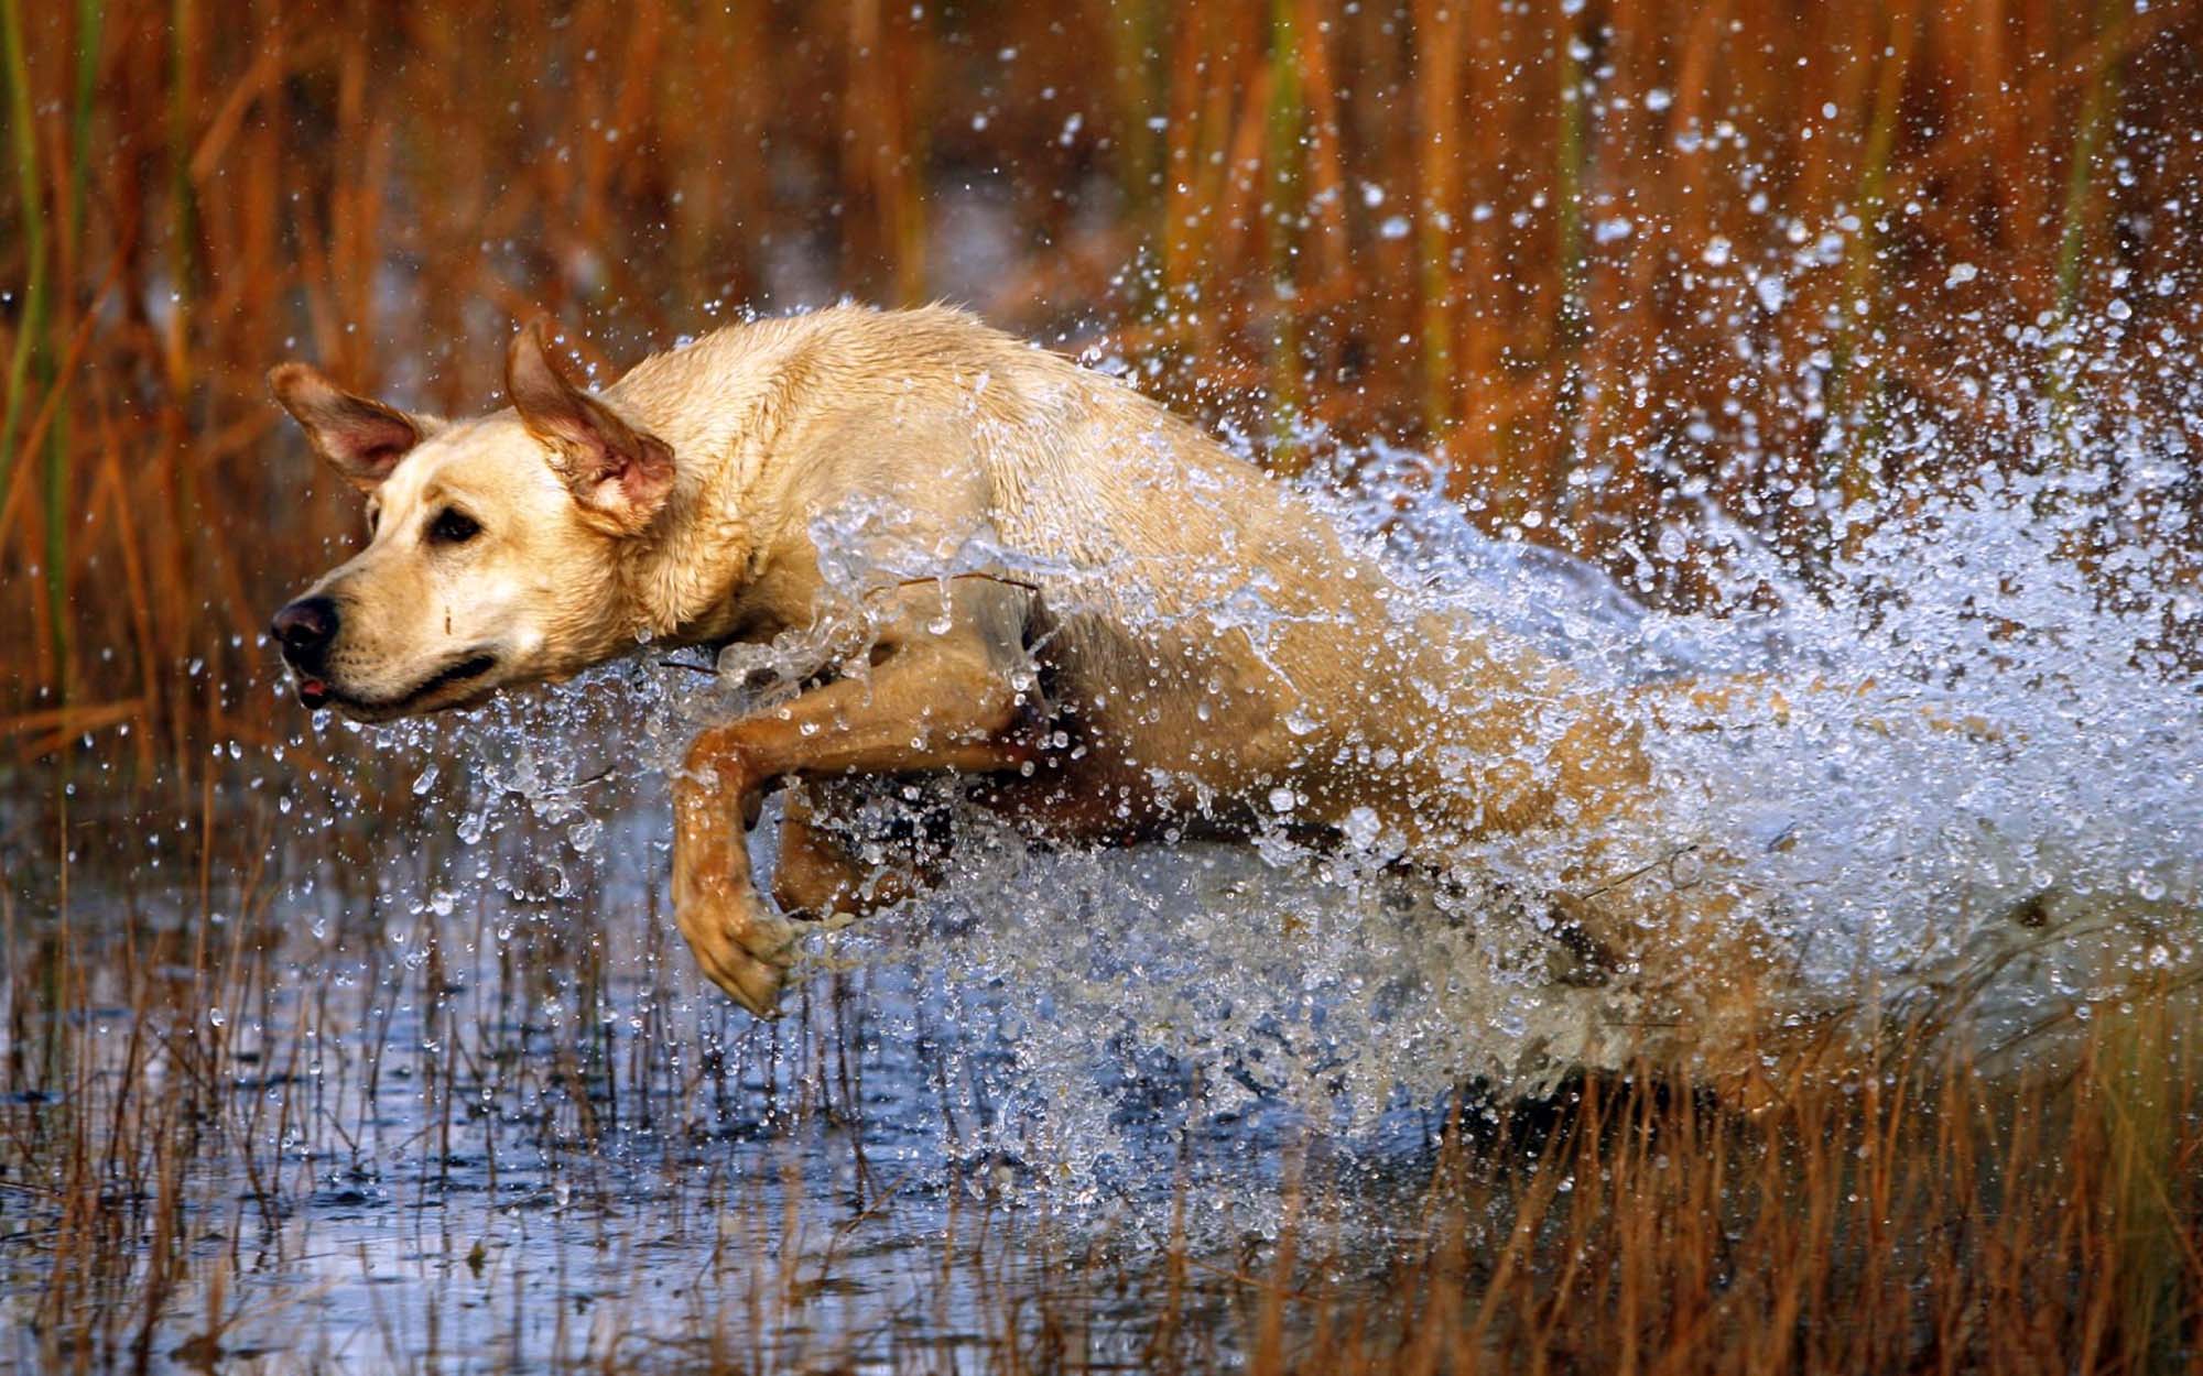
[[[253,729],[264,610],[350,520],[260,394],[286,354],[469,409],[527,310],[619,363],[740,304],[947,284],[1152,363],[1143,385],[1280,467],[1311,425],[1428,445],[1480,520],[1538,513],[1535,539],[1626,561],[1703,487],[1811,566],[1817,509],[1754,493],[1802,473],[1886,511],[1914,462],[1877,451],[1897,409],[1956,436],[1936,462],[2014,462],[1954,359],[2040,374],[2014,339],[2086,319],[2115,271],[2172,284],[2124,293],[2124,348],[2203,302],[2185,2],[4,20],[0,616],[37,630],[0,643],[15,751]],[[978,229],[949,220],[965,187],[996,207]],[[1844,251],[1804,262],[1795,233]],[[998,266],[961,277],[974,236]],[[1958,264],[1978,275],[1947,284]],[[1754,368],[1740,337],[1831,365]],[[2130,405],[2192,429],[2152,379]],[[1692,438],[1738,412],[1756,445]],[[1703,592],[1692,555],[1652,564],[1661,597]]]

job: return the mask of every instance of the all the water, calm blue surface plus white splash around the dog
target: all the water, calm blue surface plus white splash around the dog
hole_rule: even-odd
[[[2203,969],[2199,608],[2163,577],[2192,482],[2177,434],[1923,489],[1811,572],[1707,513],[1705,614],[1478,535],[1421,456],[1304,443],[1320,500],[1430,608],[1613,694],[1749,685],[1646,716],[1659,806],[1637,841],[1732,867],[1778,1024],[1934,1017],[2027,1066],[2139,980]],[[1322,495],[1346,471],[1353,495]],[[643,647],[465,720],[317,720],[300,753],[227,746],[207,808],[143,830],[82,779],[86,991],[57,1081],[77,1099],[11,1123],[128,1143],[104,1209],[137,1262],[62,1303],[95,1356],[892,1367],[1075,1314],[1090,1352],[1139,1363],[1170,1240],[1262,1255],[1284,1182],[1322,1180],[1337,1253],[1370,1259],[1333,1279],[1370,1284],[1412,1235],[1403,1180],[1447,1094],[1478,1083],[1496,1114],[1646,1050],[1630,982],[1566,978],[1487,883],[1580,839],[1445,876],[1401,874],[1372,819],[1313,850],[1280,830],[1082,852],[952,782],[850,786],[883,837],[945,812],[945,881],[811,936],[789,1017],[756,1024],[670,933],[665,768],[815,654]],[[317,777],[308,753],[337,764]],[[59,905],[53,878],[15,900]],[[51,955],[57,931],[9,949]],[[57,1055],[37,1008],[0,1026],[18,1063]],[[187,1125],[145,1116],[172,1099]],[[0,1182],[0,1303],[51,1284],[57,1180]],[[1031,1303],[1005,1312],[1005,1290]],[[1231,1284],[1187,1295],[1225,1306]],[[33,1363],[26,1328],[9,1343]]]

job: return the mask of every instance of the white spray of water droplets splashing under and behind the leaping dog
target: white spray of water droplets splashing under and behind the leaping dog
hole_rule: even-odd
[[[1558,826],[1401,865],[1399,839],[1357,810],[1313,845],[1278,826],[1242,848],[1088,852],[1035,845],[956,779],[848,784],[835,810],[859,854],[943,819],[954,845],[927,894],[809,938],[806,971],[872,971],[886,1041],[943,1048],[954,1140],[923,1151],[1013,1156],[1088,1195],[1179,1132],[1234,1143],[1284,1114],[1357,1138],[1465,1079],[1538,1092],[1639,1052],[1687,1059],[1661,1044],[1646,967],[1586,969],[1597,960],[1520,898],[1588,845],[1639,856],[1659,883],[1718,883],[1714,916],[1661,940],[1716,980],[1749,951],[1773,1026],[1866,1035],[1932,1011],[1974,1046],[2031,1055],[2038,1028],[2084,1019],[2124,980],[2194,969],[2203,909],[2203,698],[2179,654],[2196,605],[2161,577],[2188,480],[2179,434],[2033,423],[2071,443],[1912,493],[1903,520],[1840,533],[1811,572],[1707,506],[1690,535],[1725,605],[1701,614],[1648,610],[1591,564],[1478,533],[1419,454],[1302,436],[1328,460],[1309,500],[1417,590],[1417,616],[1516,636],[1637,702],[1654,801],[1608,823],[1630,834]],[[850,605],[881,579],[1082,577],[996,533],[899,546],[881,539],[894,520],[815,522]],[[1209,612],[1260,645],[1262,590],[1229,597]],[[555,900],[568,870],[615,854],[643,856],[632,872],[650,883],[663,828],[648,808],[606,817],[593,782],[650,784],[701,722],[771,705],[837,649],[809,634],[716,663],[641,647],[456,731],[381,735],[456,755],[460,841],[522,812],[564,828],[531,896]],[[760,852],[771,834],[756,830]],[[502,883],[496,863],[449,870],[432,905]]]

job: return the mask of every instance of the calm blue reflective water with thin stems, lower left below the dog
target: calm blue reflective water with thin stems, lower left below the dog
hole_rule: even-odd
[[[987,1066],[1007,1055],[989,991],[947,1006],[938,980],[892,962],[822,975],[756,1024],[652,920],[656,817],[621,799],[586,826],[500,823],[456,854],[416,850],[408,826],[357,865],[282,841],[271,889],[216,885],[205,922],[145,914],[148,931],[238,955],[209,962],[227,978],[172,964],[198,993],[141,1019],[143,1039],[130,1008],[95,1002],[73,1044],[101,1063],[79,1083],[117,1121],[194,1105],[150,1178],[115,1180],[101,1204],[141,1231],[141,1270],[59,1306],[64,1321],[121,1314],[108,1341],[126,1347],[95,1365],[150,1343],[181,1365],[216,1347],[275,1367],[723,1350],[789,1369],[1057,1321],[1005,1319],[983,1303],[994,1290],[1055,1295],[1113,1347],[1104,1297],[1068,1268],[1108,1211],[1051,1222],[1020,1189],[1033,1167],[991,1136]],[[123,958],[99,940],[88,960],[117,997]],[[20,1030],[9,1055],[40,1055],[40,1028]],[[11,1121],[66,1136],[77,1112],[93,1105],[20,1103]],[[37,1180],[4,1187],[0,1295],[26,1308],[48,1284],[35,1235],[53,1206]],[[148,1222],[167,1191],[174,1237]],[[170,1248],[189,1262],[139,1332]],[[11,1356],[35,1365],[33,1332],[11,1330]],[[1121,1347],[1137,1356],[1132,1336]]]

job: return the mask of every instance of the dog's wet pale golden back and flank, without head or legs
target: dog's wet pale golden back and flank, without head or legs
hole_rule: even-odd
[[[1335,826],[1379,799],[1410,843],[1443,845],[1641,777],[1560,665],[1430,610],[1287,484],[1115,379],[956,310],[835,308],[661,354],[615,396],[665,414],[760,390],[773,438],[736,462],[758,467],[753,493],[800,493],[760,517],[778,539],[817,559],[822,513],[877,500],[905,550],[943,561],[892,572],[1040,590],[1077,788],[1119,817]]]

